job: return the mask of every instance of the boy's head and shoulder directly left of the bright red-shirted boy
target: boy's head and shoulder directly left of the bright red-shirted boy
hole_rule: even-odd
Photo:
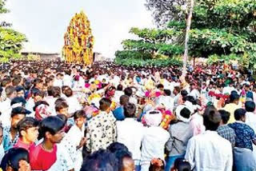
[[[38,121],[33,117],[25,117],[18,122],[18,142],[14,145],[26,150],[30,149],[31,145],[38,139]]]

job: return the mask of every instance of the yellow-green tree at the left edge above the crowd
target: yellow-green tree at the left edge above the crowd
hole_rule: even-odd
[[[5,5],[6,1],[0,0],[0,14],[9,12]],[[7,27],[8,25],[0,26],[0,62],[8,62],[10,58],[21,58],[22,43],[27,41],[24,34]]]

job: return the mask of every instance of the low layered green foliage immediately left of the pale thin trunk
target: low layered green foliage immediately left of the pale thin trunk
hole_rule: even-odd
[[[170,45],[172,37],[178,32],[174,30],[138,29],[132,28],[130,33],[136,34],[139,40],[124,40],[124,50],[115,53],[115,62],[125,66],[170,66],[180,65],[181,62],[173,58],[183,53],[183,46]]]

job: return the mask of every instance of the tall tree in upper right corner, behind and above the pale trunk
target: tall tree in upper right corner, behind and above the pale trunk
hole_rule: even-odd
[[[172,14],[169,17],[169,29],[185,30],[183,19],[187,10],[182,14],[184,18],[175,18],[181,14],[172,8],[163,8],[161,0],[150,0],[149,8],[161,10],[161,14]],[[168,1],[167,1],[168,2]],[[164,5],[164,4],[163,4]],[[162,5],[162,6],[163,6]],[[174,14],[177,12],[176,14]],[[166,16],[154,15],[158,21],[166,19]],[[166,20],[165,20],[166,21]],[[185,33],[179,34],[174,40],[185,40]],[[178,41],[182,45],[184,41]],[[174,42],[174,43],[178,43]],[[197,0],[191,22],[189,55],[194,58],[229,58],[242,62],[246,67],[256,69],[256,2],[255,0]],[[241,60],[242,59],[242,60]],[[250,62],[245,62],[246,59]],[[213,60],[211,60],[213,61]]]

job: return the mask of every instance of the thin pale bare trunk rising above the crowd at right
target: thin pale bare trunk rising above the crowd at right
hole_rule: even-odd
[[[190,0],[190,12],[189,15],[186,19],[186,39],[185,39],[185,53],[183,56],[183,70],[182,70],[182,76],[186,76],[186,63],[187,63],[187,58],[189,54],[189,46],[188,42],[190,39],[190,26],[191,26],[191,20],[192,20],[192,14],[194,10],[194,0]]]

